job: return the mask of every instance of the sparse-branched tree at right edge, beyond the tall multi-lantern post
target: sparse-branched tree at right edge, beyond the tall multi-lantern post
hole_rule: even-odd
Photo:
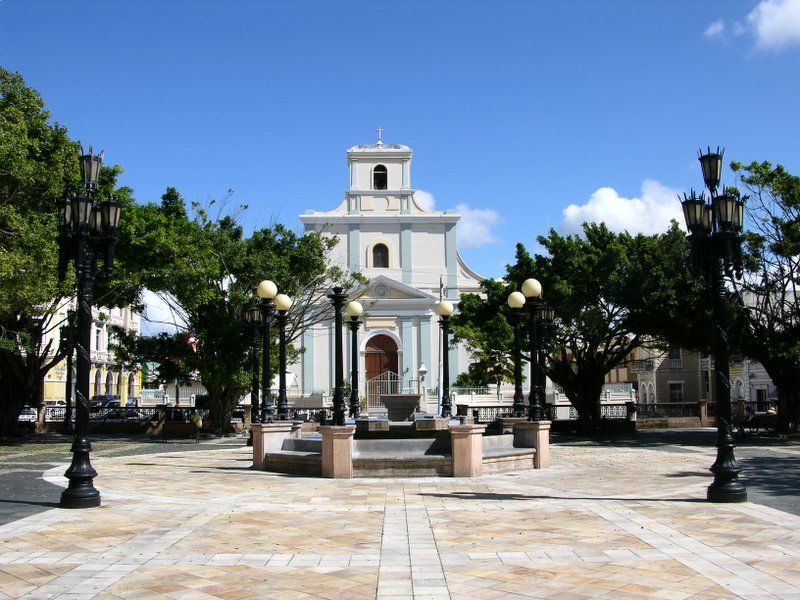
[[[743,310],[740,345],[778,389],[779,427],[800,423],[800,177],[781,165],[731,163],[750,193],[745,277],[731,281]]]

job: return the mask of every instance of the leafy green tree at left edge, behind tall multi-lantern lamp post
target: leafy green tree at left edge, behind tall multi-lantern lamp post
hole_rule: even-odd
[[[56,200],[78,179],[78,146],[23,78],[0,68],[0,437],[65,349],[44,334],[72,279],[58,279]]]

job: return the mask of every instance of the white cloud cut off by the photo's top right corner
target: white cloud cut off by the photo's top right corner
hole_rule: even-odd
[[[759,50],[783,50],[800,45],[800,0],[761,0],[744,21],[734,21],[726,28],[722,19],[711,23],[703,35],[724,40],[726,31],[734,37],[750,33]]]

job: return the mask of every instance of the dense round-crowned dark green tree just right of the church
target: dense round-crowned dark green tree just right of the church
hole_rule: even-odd
[[[652,236],[585,224],[582,236],[551,230],[538,241],[547,254],[531,257],[518,244],[505,282],[482,282],[485,300],[465,297],[455,328],[462,336],[484,331],[489,315],[497,315],[507,321],[503,327],[492,325],[498,332],[493,343],[510,348],[506,298],[525,279],[538,279],[556,311],[545,370],[577,409],[581,426],[594,428],[606,374],[635,348],[672,335],[678,323],[694,331],[696,317],[686,306],[694,303],[702,284],[688,268],[688,244],[677,224]],[[672,338],[682,341],[683,334]]]

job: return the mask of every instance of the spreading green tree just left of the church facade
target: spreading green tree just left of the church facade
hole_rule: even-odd
[[[298,236],[280,224],[245,237],[237,215],[225,206],[211,216],[215,203],[193,204],[187,214],[180,195],[168,188],[160,205],[133,207],[119,244],[135,285],[160,294],[181,324],[177,333],[154,339],[120,335],[118,355],[128,364],[155,361],[170,378],[198,373],[218,424],[230,422],[249,389],[251,338],[242,312],[258,282],[272,279],[296,299],[287,332],[293,340],[326,314],[327,303],[319,299],[331,283],[348,279],[326,263],[335,240],[319,233]],[[188,343],[188,333],[195,344]],[[273,356],[277,360],[277,352]]]

